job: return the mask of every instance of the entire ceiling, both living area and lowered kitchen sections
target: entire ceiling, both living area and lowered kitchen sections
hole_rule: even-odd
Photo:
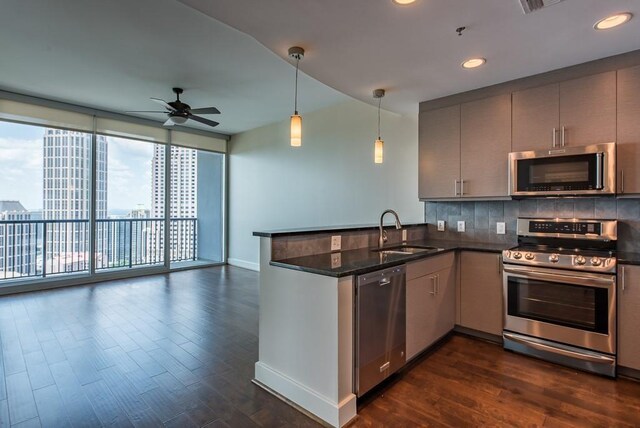
[[[635,18],[592,29],[619,11]],[[375,88],[388,91],[383,108],[415,114],[420,101],[639,49],[639,40],[639,0],[565,0],[530,15],[518,0],[3,0],[0,89],[124,112],[155,110],[149,97],[172,100],[181,86],[192,107],[222,111],[208,116],[221,123],[213,130],[234,134],[292,113],[293,45],[307,50],[301,70],[313,77],[301,75],[302,114],[344,94],[375,104]],[[476,55],[488,63],[460,67]]]

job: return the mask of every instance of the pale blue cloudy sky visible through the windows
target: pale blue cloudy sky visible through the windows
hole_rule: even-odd
[[[0,121],[0,200],[42,209],[44,128]],[[153,144],[108,137],[107,211],[151,208]]]

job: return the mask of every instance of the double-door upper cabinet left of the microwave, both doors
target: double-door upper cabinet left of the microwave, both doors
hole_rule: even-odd
[[[420,198],[507,196],[509,94],[421,112],[419,140]]]

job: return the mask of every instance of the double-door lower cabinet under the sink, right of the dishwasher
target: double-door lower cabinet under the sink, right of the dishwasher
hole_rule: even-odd
[[[455,253],[407,264],[407,361],[453,329]]]

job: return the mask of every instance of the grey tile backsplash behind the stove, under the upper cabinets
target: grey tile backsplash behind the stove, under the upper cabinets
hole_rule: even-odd
[[[640,252],[640,199],[575,198],[523,199],[514,201],[426,202],[425,221],[430,238],[516,242],[518,217],[617,219],[618,249]],[[447,230],[438,232],[438,220]],[[457,232],[457,222],[465,221],[465,232]],[[506,223],[506,234],[496,234],[496,223]]]

